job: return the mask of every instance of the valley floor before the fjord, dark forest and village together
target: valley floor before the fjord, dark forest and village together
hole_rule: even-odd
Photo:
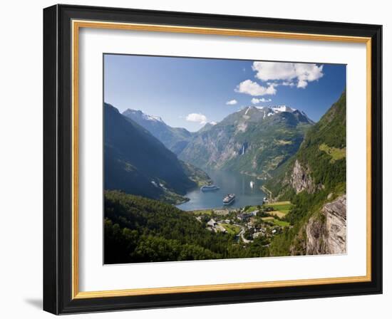
[[[291,226],[269,216],[273,208],[250,208],[182,211],[153,199],[106,191],[105,263],[269,256],[274,238]]]

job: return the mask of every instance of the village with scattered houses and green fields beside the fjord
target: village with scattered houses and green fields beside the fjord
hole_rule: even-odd
[[[215,233],[229,234],[237,241],[249,244],[254,239],[264,239],[265,246],[270,239],[282,233],[284,227],[291,227],[284,216],[292,208],[290,202],[274,202],[241,209],[207,209],[192,211],[195,218],[206,229]]]

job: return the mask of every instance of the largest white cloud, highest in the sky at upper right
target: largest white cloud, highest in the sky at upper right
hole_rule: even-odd
[[[296,85],[306,88],[309,82],[319,80],[324,75],[323,66],[315,63],[282,63],[255,61],[252,69],[259,80],[282,80],[282,85]]]

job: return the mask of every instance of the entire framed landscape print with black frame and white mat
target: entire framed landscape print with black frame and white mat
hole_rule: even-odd
[[[381,29],[44,9],[44,310],[381,293]]]

